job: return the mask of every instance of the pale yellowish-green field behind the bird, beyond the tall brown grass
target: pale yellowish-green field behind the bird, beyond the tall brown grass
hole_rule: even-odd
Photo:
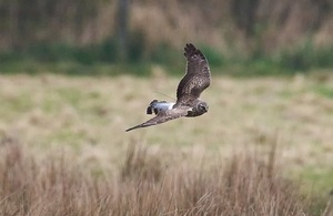
[[[333,179],[332,81],[332,75],[325,81],[214,76],[202,94],[208,114],[125,133],[150,117],[144,110],[151,100],[171,101],[155,92],[174,96],[179,78],[1,75],[0,140],[18,140],[38,161],[62,151],[98,173],[100,166],[118,171],[132,141],[165,152],[162,162],[196,163],[204,153],[213,164],[244,146],[266,154],[278,140],[284,171],[327,194]]]

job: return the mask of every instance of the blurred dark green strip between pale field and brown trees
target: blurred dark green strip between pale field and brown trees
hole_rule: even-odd
[[[138,35],[138,37],[135,37]],[[129,42],[129,56],[120,60],[114,38],[87,47],[69,44],[36,44],[20,52],[0,53],[1,73],[40,74],[44,72],[70,75],[121,75],[123,73],[147,76],[151,68],[160,65],[169,74],[184,70],[181,49],[160,43],[148,49],[140,33]],[[317,69],[332,69],[333,47],[314,48],[305,43],[276,53],[224,54],[215,48],[199,44],[215,73],[236,76],[293,75]]]

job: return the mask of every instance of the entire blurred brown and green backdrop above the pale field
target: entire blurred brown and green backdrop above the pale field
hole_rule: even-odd
[[[331,0],[2,0],[0,70],[178,73],[192,42],[224,73],[294,73],[333,66],[332,34]]]

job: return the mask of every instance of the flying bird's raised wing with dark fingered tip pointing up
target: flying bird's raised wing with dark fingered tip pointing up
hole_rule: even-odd
[[[208,60],[192,43],[184,48],[186,58],[186,74],[176,89],[176,99],[180,103],[185,97],[198,99],[211,84],[211,72]]]

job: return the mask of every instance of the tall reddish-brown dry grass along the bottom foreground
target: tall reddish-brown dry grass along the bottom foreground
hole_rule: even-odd
[[[97,175],[64,154],[38,162],[26,151],[16,141],[2,142],[1,215],[269,216],[310,210],[300,187],[281,176],[273,157],[265,162],[243,152],[224,164],[167,167],[162,153],[134,144],[119,174]]]

